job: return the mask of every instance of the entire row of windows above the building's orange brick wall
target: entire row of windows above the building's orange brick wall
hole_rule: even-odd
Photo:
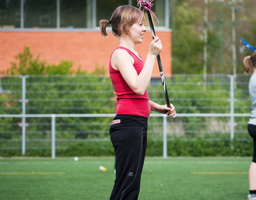
[[[157,27],[169,28],[172,0],[155,0]],[[0,29],[99,29],[99,20],[110,19],[120,5],[138,6],[137,0],[0,0]],[[142,10],[143,8],[141,8]],[[147,15],[147,11],[145,11]],[[149,26],[146,17],[146,26]]]

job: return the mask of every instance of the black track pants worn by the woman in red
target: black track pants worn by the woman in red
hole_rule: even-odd
[[[135,200],[147,146],[147,118],[116,115],[110,125],[110,139],[116,154],[116,180],[110,200]]]

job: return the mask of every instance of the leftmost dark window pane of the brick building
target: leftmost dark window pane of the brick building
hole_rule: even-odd
[[[0,28],[20,28],[20,0],[0,1]]]

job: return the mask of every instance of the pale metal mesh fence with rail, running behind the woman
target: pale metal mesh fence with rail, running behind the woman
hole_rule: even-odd
[[[249,139],[251,102],[246,75],[173,75],[167,78],[177,118],[153,113],[148,138]],[[107,76],[4,76],[0,96],[0,155],[3,150],[65,149],[77,142],[109,143],[115,95]],[[153,78],[151,100],[165,103],[161,81]]]

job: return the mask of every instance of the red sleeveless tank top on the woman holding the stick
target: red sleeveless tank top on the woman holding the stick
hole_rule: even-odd
[[[123,49],[127,51],[134,59],[133,67],[140,74],[144,66],[144,62],[137,57],[132,51],[125,47],[118,46],[117,49]],[[114,51],[115,51],[114,50]],[[113,52],[114,52],[113,51]],[[113,54],[113,53],[112,53]],[[111,57],[112,57],[111,54]],[[113,69],[111,66],[111,57],[109,61],[109,74],[114,87],[115,94],[117,95],[117,115],[139,115],[143,117],[149,117],[150,105],[148,92],[146,91],[143,95],[136,94],[132,91],[131,87],[124,81],[121,73],[118,70]]]

